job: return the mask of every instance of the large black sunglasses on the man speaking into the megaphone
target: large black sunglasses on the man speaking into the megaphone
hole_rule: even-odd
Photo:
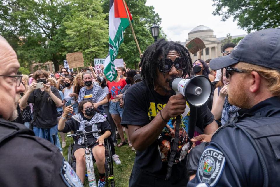
[[[178,57],[174,62],[170,58],[159,59],[157,61],[158,70],[160,70],[160,72],[169,72],[173,64],[177,70],[184,70],[187,67],[187,63],[187,57]]]

